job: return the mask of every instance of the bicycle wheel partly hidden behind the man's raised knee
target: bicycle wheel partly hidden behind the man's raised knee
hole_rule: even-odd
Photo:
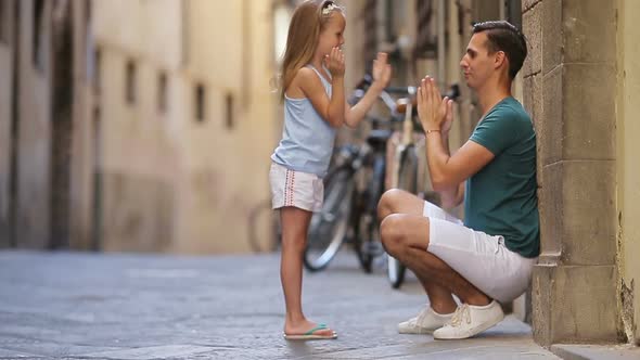
[[[418,192],[418,156],[415,147],[408,146],[400,158],[398,188],[412,194]],[[407,268],[391,255],[387,255],[387,273],[393,288],[399,288],[405,282]]]

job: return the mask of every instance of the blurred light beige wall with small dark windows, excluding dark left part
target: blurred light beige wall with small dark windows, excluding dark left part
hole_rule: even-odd
[[[249,228],[271,241],[267,216],[247,220],[277,142],[271,3],[94,5],[103,248],[248,252]]]

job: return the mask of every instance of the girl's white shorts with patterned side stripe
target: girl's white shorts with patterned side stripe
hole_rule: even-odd
[[[315,173],[294,171],[271,163],[271,205],[274,209],[293,206],[307,211],[320,211],[324,200],[324,183]]]

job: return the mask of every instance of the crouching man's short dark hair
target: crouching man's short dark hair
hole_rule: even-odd
[[[473,34],[487,34],[489,53],[503,51],[509,59],[509,76],[511,79],[522,68],[527,56],[527,42],[517,27],[505,21],[484,22],[473,25]]]

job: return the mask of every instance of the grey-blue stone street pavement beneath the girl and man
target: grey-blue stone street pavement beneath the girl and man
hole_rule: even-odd
[[[0,359],[559,359],[513,317],[477,338],[399,335],[425,298],[342,252],[306,273],[307,316],[337,340],[287,343],[279,255],[0,252]]]

